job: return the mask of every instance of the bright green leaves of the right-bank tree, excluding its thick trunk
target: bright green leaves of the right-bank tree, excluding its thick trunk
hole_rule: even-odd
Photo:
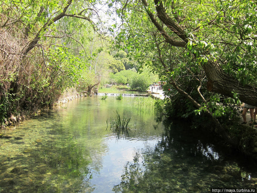
[[[122,13],[127,23],[115,40],[119,49],[128,50],[127,57],[133,57],[141,66],[148,65],[166,81],[167,114],[197,120],[195,116],[208,111],[223,124],[236,120],[238,94],[232,90],[234,98],[229,98],[208,92],[207,67],[203,66],[208,61],[218,62],[238,82],[256,85],[256,5],[252,1],[119,2],[123,9],[117,13]],[[185,41],[181,41],[176,30],[172,32],[172,27],[163,25],[164,19],[160,21],[156,16],[160,3],[167,18],[185,31],[188,37]],[[171,46],[169,41],[180,45]],[[174,83],[189,93],[194,103],[175,90]]]

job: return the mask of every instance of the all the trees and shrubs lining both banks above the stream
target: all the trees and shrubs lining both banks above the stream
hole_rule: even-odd
[[[254,1],[0,2],[1,122],[50,106],[67,88],[145,90],[155,74],[166,81],[166,117],[252,147],[238,106],[257,106]]]

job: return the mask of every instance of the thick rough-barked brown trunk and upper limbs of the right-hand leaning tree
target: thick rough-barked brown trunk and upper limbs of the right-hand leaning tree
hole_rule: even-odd
[[[146,1],[142,0],[142,3],[146,6]],[[158,18],[171,30],[173,31],[178,37],[180,37],[184,43],[188,42],[188,37],[182,27],[178,25],[178,23],[174,22],[169,15],[165,12],[165,9],[162,5],[162,2],[159,0],[154,0],[156,5],[156,11]],[[148,13],[150,18],[152,17],[151,13]],[[151,18],[152,22],[156,26],[157,24]],[[157,26],[156,26],[157,27]],[[157,27],[160,31],[160,29]],[[162,35],[164,36],[165,33],[161,30]],[[165,39],[168,37],[165,36]],[[172,41],[167,41],[173,46]],[[208,53],[205,53],[208,55]],[[250,85],[242,85],[237,79],[227,75],[221,69],[219,63],[217,61],[213,61],[212,59],[208,59],[208,61],[202,64],[202,67],[206,73],[208,78],[207,89],[208,91],[213,91],[220,93],[222,95],[233,97],[233,93],[238,94],[238,98],[247,104],[257,106],[257,87],[253,87]]]

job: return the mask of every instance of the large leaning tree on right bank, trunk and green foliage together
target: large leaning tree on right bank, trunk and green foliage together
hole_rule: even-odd
[[[215,123],[240,99],[257,105],[256,4],[252,1],[120,1],[128,25],[116,40]],[[127,10],[126,14],[124,11]],[[142,35],[143,34],[143,35]],[[211,91],[211,92],[210,92]],[[215,94],[215,93],[218,94]],[[224,97],[226,96],[226,97]],[[176,98],[176,97],[175,97]],[[215,105],[219,103],[220,105]],[[197,110],[198,109],[198,110]],[[233,109],[233,108],[232,108]]]

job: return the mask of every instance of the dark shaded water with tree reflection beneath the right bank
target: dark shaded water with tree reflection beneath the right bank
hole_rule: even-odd
[[[256,188],[257,164],[251,158],[214,146],[211,141],[212,136],[188,132],[185,125],[166,124],[154,150],[137,151],[133,162],[127,162],[121,183],[113,191],[211,192],[211,188],[218,187]]]

